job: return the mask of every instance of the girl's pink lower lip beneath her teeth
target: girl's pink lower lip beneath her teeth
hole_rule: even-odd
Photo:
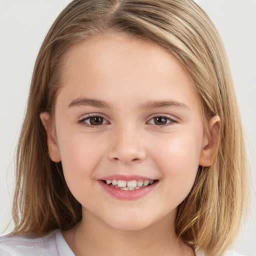
[[[143,197],[144,195],[149,193],[152,189],[154,189],[154,187],[156,186],[158,181],[154,182],[153,184],[151,184],[149,186],[144,186],[142,188],[138,188],[138,189],[134,189],[134,190],[122,190],[119,188],[115,188],[114,186],[107,185],[102,180],[99,180],[99,183],[107,193],[109,193],[111,196],[113,196],[117,199],[136,200],[136,199]]]

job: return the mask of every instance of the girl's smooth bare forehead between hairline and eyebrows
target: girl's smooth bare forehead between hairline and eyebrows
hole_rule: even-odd
[[[197,100],[192,79],[176,57],[127,34],[96,35],[73,45],[64,56],[60,91],[65,90],[70,100],[86,94],[111,100],[131,93],[140,101],[146,96],[150,100],[153,93],[158,100],[165,94],[171,97],[171,87],[172,92],[183,90],[175,97],[183,94]]]

